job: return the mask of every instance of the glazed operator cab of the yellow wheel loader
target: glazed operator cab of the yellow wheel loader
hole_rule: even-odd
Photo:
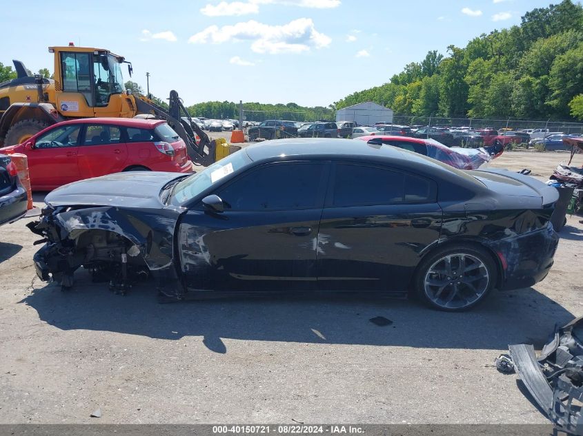
[[[120,116],[124,59],[108,50],[52,47],[55,54],[57,110],[63,116]],[[60,88],[60,89],[59,89]]]

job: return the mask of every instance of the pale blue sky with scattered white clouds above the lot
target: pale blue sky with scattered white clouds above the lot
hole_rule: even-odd
[[[557,3],[555,1],[555,3]],[[70,3],[71,10],[4,8],[0,62],[53,70],[49,45],[106,48],[126,56],[133,81],[186,105],[259,101],[326,106],[381,85],[428,50],[446,52],[520,23],[539,0],[191,0]],[[167,6],[166,6],[167,5]],[[30,11],[42,9],[39,20]],[[73,10],[74,8],[74,10]],[[40,26],[47,29],[35,32]],[[48,27],[47,27],[48,26]],[[125,70],[124,70],[125,71]],[[126,75],[125,79],[128,77]]]

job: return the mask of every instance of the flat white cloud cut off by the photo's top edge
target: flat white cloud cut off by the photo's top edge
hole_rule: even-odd
[[[200,10],[208,17],[224,17],[230,15],[257,14],[259,5],[279,4],[284,6],[298,6],[300,8],[329,9],[340,6],[340,0],[247,0],[221,1],[217,5],[208,3]]]

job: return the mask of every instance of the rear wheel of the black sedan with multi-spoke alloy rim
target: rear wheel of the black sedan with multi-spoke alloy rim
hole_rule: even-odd
[[[484,301],[496,278],[496,265],[486,249],[450,245],[422,260],[414,279],[414,290],[434,309],[466,311]]]

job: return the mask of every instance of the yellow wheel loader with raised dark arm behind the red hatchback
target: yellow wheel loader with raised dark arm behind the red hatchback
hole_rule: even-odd
[[[169,109],[126,91],[121,66],[132,64],[101,48],[49,47],[55,56],[55,80],[32,76],[21,61],[13,61],[17,78],[0,83],[0,145],[26,141],[49,125],[73,118],[148,116],[175,129],[199,165],[215,161],[215,142],[192,121],[176,91]],[[199,140],[197,141],[197,136]]]

